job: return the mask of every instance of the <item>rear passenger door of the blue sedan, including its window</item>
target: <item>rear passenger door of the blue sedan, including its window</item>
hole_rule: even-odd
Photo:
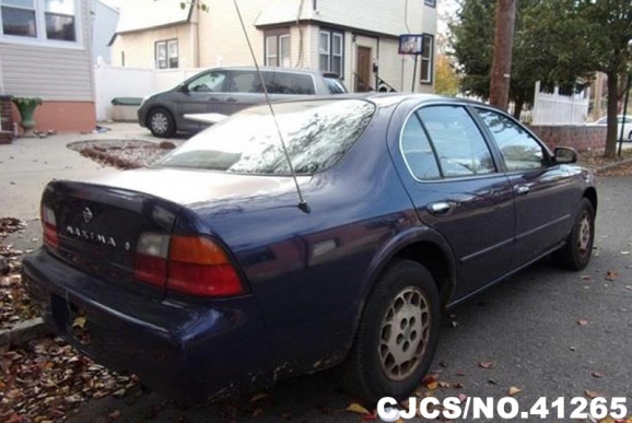
[[[420,220],[453,248],[457,298],[504,275],[513,255],[513,191],[468,109],[418,109],[403,126],[400,149]]]

